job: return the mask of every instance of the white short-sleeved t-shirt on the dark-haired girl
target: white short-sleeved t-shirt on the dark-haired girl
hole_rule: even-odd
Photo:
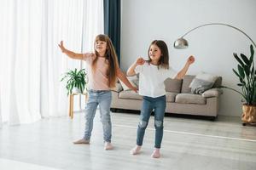
[[[177,72],[169,67],[169,69],[158,69],[157,65],[148,64],[137,65],[135,72],[139,73],[139,94],[152,98],[166,95],[165,80],[166,78],[174,78]]]

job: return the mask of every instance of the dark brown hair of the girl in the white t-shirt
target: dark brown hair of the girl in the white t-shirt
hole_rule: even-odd
[[[149,56],[149,50],[150,50],[150,47],[152,45],[156,45],[158,48],[160,48],[160,51],[161,51],[161,56],[160,56],[160,59],[158,61],[158,68],[169,69],[169,52],[168,52],[166,42],[164,42],[162,40],[154,40],[149,45],[149,48],[148,48],[148,63],[150,63],[151,60],[152,60],[152,59],[150,59],[150,56]]]

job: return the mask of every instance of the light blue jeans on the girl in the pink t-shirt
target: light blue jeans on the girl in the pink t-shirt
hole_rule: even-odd
[[[84,139],[90,140],[93,128],[93,119],[96,114],[96,108],[99,105],[101,113],[101,122],[103,127],[103,139],[105,142],[111,142],[112,125],[110,118],[110,105],[112,100],[111,91],[89,90],[89,99],[85,106],[85,132]]]

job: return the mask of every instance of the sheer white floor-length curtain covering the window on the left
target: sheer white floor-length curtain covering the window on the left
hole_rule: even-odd
[[[92,50],[103,32],[103,0],[1,0],[0,9],[0,124],[67,116],[61,74],[82,64],[57,44],[63,40],[78,53]]]

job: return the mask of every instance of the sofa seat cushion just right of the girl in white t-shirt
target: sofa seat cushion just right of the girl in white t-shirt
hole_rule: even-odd
[[[177,94],[175,102],[181,104],[201,104],[205,105],[207,99],[200,94]]]

